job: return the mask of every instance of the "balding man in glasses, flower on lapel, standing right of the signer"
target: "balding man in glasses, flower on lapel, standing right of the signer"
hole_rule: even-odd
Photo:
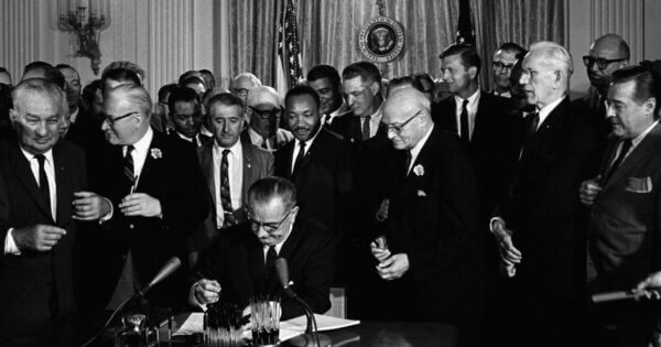
[[[379,275],[399,285],[388,308],[399,307],[399,319],[455,324],[464,346],[479,333],[479,200],[466,151],[430,112],[414,88],[386,100],[382,122],[399,153],[387,228],[371,250]]]

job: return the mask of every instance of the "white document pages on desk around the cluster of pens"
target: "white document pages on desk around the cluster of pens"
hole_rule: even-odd
[[[360,324],[360,321],[343,319],[319,314],[315,314],[314,316],[317,321],[319,332],[334,330]],[[204,329],[204,313],[202,312],[180,314],[174,321],[177,323],[177,329],[174,332],[173,336],[193,335],[195,333],[202,333]],[[307,326],[306,323],[305,316],[280,322],[280,341],[285,341],[305,333],[305,327]],[[251,337],[250,329],[246,329],[243,335]]]

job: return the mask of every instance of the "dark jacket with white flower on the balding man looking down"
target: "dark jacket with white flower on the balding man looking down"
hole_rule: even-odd
[[[393,254],[407,253],[409,281],[402,297],[418,303],[415,317],[464,326],[477,319],[481,236],[479,198],[468,154],[458,139],[434,127],[405,175],[398,153],[398,173],[386,228]],[[430,290],[433,289],[433,290]]]

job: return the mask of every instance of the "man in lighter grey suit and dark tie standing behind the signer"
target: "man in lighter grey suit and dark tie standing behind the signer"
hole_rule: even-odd
[[[246,119],[241,99],[223,93],[207,106],[214,143],[197,149],[208,193],[212,214],[194,236],[195,250],[213,243],[218,230],[246,221],[248,188],[257,180],[273,174],[273,155],[250,142],[241,141]]]

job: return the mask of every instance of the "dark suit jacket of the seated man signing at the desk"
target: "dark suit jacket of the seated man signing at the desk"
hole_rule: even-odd
[[[293,290],[312,311],[318,314],[328,311],[335,267],[333,234],[299,214],[278,257],[286,259]],[[271,294],[282,299],[281,319],[303,315],[300,305],[289,299],[280,285],[267,283],[264,263],[262,243],[249,224],[241,224],[228,228],[203,252],[196,270],[207,279],[217,280],[223,288],[223,299],[240,307],[247,306],[252,296]]]

